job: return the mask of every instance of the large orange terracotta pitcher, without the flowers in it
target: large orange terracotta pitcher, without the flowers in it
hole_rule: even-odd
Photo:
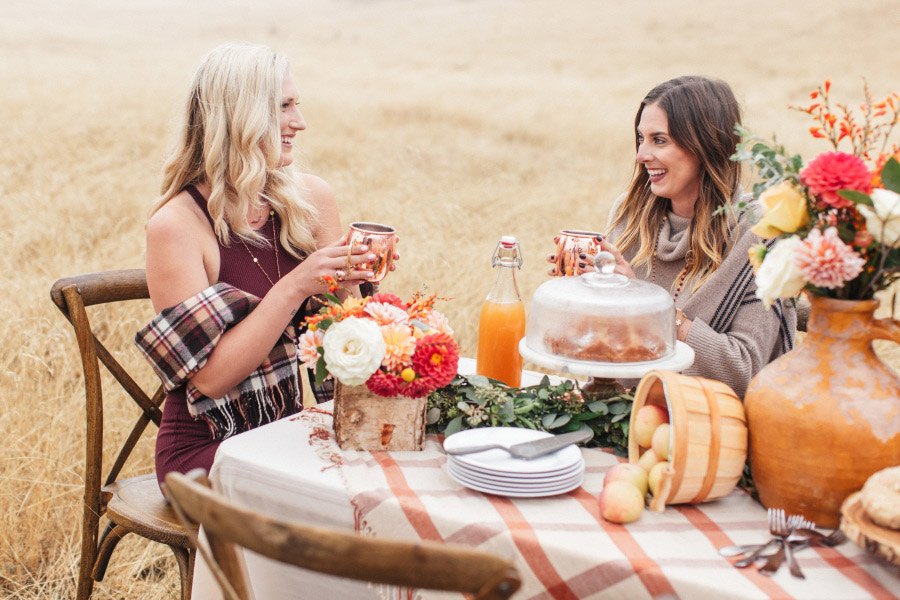
[[[872,350],[900,343],[900,321],[873,318],[877,300],[810,302],[802,344],[747,390],[750,466],[767,508],[836,527],[848,495],[900,464],[900,378]]]

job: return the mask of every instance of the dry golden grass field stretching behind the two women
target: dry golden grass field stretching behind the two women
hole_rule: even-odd
[[[218,43],[267,43],[291,57],[308,169],[330,182],[345,224],[398,228],[403,259],[383,289],[452,297],[442,309],[468,355],[498,237],[521,240],[530,297],[556,231],[603,227],[631,176],[634,111],[656,83],[724,78],[751,129],[777,131],[807,157],[825,146],[788,103],[827,77],[853,103],[862,77],[876,96],[897,84],[889,0],[252,4],[0,8],[0,596],[74,596],[83,391],[48,292],[62,276],[143,266],[182,96]],[[128,364],[140,363],[130,339],[150,316],[106,321]],[[900,365],[896,346],[881,351]],[[113,429],[130,414],[115,405]],[[149,438],[140,459],[136,469],[152,468]],[[165,548],[126,538],[95,597],[175,598],[177,587]]]

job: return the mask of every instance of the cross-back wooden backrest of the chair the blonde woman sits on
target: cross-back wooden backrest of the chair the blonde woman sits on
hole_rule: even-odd
[[[85,403],[87,412],[87,460],[85,466],[85,514],[93,512],[99,518],[105,510],[102,486],[110,485],[119,476],[141,434],[150,422],[159,426],[160,404],[165,399],[162,386],[147,394],[103,343],[97,339],[86,308],[128,300],[146,300],[147,278],[143,269],[105,271],[76,277],[66,277],[53,284],[50,297],[75,329],[75,338],[84,369]],[[106,366],[125,392],[140,408],[140,414],[115,460],[103,476],[103,392],[100,363]]]

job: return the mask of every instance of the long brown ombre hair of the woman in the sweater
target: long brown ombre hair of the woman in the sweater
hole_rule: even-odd
[[[674,142],[700,161],[700,194],[688,232],[689,252],[695,260],[688,268],[687,278],[696,291],[722,264],[734,242],[730,233],[735,211],[716,210],[730,204],[740,188],[741,165],[731,156],[740,141],[735,125],[741,121],[741,110],[724,81],[700,76],[671,79],[650,90],[641,102],[634,118],[635,151],[641,114],[653,104],[666,113]],[[633,265],[649,265],[653,259],[663,218],[669,210],[671,200],[650,191],[647,170],[636,164],[628,193],[612,221],[612,227],[624,226],[616,240],[618,248],[624,251],[637,247]]]

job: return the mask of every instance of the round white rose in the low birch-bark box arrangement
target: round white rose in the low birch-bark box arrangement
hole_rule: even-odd
[[[370,319],[347,317],[328,328],[322,342],[328,372],[344,385],[362,385],[381,366],[385,345]]]

